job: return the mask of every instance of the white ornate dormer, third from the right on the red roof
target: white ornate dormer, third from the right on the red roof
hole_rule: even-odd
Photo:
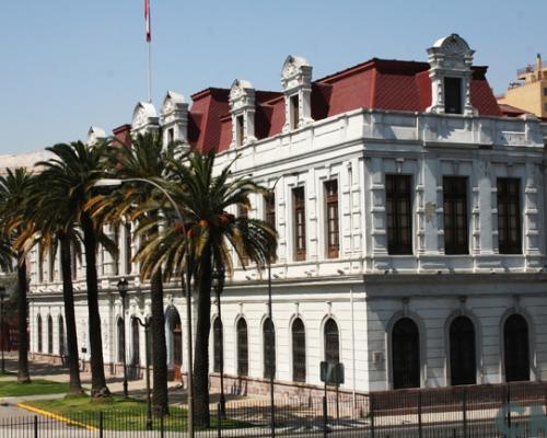
[[[236,79],[230,89],[232,146],[241,147],[255,137],[255,89],[249,81]]]

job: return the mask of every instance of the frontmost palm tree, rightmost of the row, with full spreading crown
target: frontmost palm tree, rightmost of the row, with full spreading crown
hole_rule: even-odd
[[[137,254],[144,273],[158,272],[163,265],[165,275],[171,276],[181,270],[189,247],[197,289],[194,412],[198,426],[209,425],[208,351],[213,267],[224,266],[231,273],[231,249],[237,258],[248,257],[264,266],[277,245],[276,232],[267,222],[226,212],[236,206],[249,208],[249,195],[267,191],[247,176],[233,177],[231,165],[214,176],[213,165],[214,151],[207,155],[191,153],[187,163],[172,163],[173,176],[166,187],[186,223],[165,224]],[[183,230],[186,233],[182,233]]]

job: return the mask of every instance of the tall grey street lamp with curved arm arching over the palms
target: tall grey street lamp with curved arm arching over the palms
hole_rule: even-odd
[[[171,203],[173,208],[175,209],[177,219],[181,222],[181,227],[183,229],[183,233],[187,235],[186,233],[186,226],[184,224],[184,219],[183,215],[181,214],[181,210],[178,209],[175,200],[173,197],[168,194],[168,192],[163,188],[160,184],[147,180],[147,178],[139,178],[139,177],[131,177],[131,178],[124,178],[124,180],[118,180],[118,178],[103,178],[100,180],[95,183],[95,187],[115,187],[115,186],[120,186],[124,183],[144,183],[144,184],[150,184],[153,185],[155,188],[158,188]],[[185,252],[186,252],[186,278],[182,279],[182,285],[183,285],[183,292],[186,296],[186,332],[188,333],[188,342],[186,343],[187,345],[187,354],[188,354],[188,437],[194,438],[194,359],[193,359],[193,351],[191,351],[191,258],[189,256],[189,241],[188,239],[185,239]]]

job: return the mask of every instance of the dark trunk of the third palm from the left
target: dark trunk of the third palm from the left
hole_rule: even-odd
[[[98,312],[98,287],[96,267],[96,237],[92,219],[82,215],[83,245],[85,249],[85,281],[88,286],[88,312],[91,347],[91,396],[108,396],[103,359],[103,337],[101,334],[101,314]]]

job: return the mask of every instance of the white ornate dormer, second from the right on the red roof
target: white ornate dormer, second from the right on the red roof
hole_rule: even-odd
[[[301,128],[312,118],[312,66],[300,56],[289,56],[281,72],[284,90],[283,132]]]

